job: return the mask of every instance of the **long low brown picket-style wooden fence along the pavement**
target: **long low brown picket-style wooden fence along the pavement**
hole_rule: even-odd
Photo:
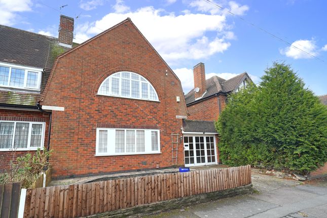
[[[251,183],[250,166],[27,189],[24,217],[80,217]]]

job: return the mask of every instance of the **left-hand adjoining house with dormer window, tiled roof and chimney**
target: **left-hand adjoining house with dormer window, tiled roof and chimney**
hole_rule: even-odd
[[[61,16],[58,39],[0,25],[0,171],[15,157],[48,146],[50,113],[37,104],[55,57],[72,46],[73,25]]]

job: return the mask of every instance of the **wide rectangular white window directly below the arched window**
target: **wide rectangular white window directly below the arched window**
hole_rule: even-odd
[[[96,129],[96,156],[160,153],[158,129]]]

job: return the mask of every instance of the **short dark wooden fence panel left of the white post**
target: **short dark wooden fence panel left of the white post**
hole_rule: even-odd
[[[8,183],[0,185],[0,217],[17,217],[20,183]]]

